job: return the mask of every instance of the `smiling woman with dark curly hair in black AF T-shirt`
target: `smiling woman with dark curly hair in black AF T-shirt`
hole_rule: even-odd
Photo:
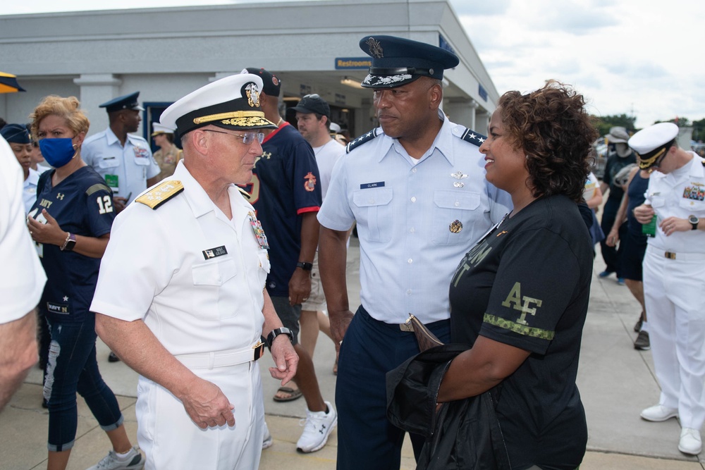
[[[587,423],[575,385],[592,278],[580,216],[596,131],[585,101],[548,81],[507,92],[480,147],[486,178],[514,209],[472,247],[450,283],[450,363],[437,400],[493,390],[513,469],[576,469]]]

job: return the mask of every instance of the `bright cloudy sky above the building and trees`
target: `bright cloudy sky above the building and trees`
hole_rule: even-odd
[[[228,3],[255,1],[6,1],[0,14]],[[636,116],[638,128],[676,116],[705,118],[703,0],[450,4],[500,94],[528,92],[555,78],[584,94],[591,113]]]

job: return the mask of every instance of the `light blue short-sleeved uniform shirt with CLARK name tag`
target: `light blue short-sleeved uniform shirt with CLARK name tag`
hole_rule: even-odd
[[[510,211],[509,194],[484,178],[479,147],[460,138],[465,128],[439,117],[418,161],[384,133],[343,156],[318,214],[332,230],[357,221],[362,306],[386,323],[448,319],[453,271]]]

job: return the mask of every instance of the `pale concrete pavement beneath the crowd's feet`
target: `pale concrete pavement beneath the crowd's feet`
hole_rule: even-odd
[[[359,302],[359,248],[351,240],[348,256],[348,291],[350,304]],[[654,376],[651,352],[634,350],[632,331],[639,316],[639,304],[614,276],[600,279],[603,269],[598,256],[587,322],[582,340],[578,385],[587,412],[589,428],[588,452],[581,470],[593,469],[673,469],[703,470],[705,454],[687,456],[678,451],[680,426],[676,419],[649,423],[639,412],[658,401],[658,383]],[[355,308],[355,307],[353,307]],[[111,386],[125,414],[128,435],[136,443],[135,421],[136,374],[123,363],[107,361],[108,350],[99,342],[100,370]],[[335,350],[324,335],[314,355],[316,373],[324,400],[333,402],[335,376],[332,373]],[[337,434],[319,452],[298,454],[296,441],[305,417],[303,399],[277,403],[271,400],[278,382],[266,370],[271,358],[259,361],[264,383],[266,421],[274,437],[274,445],[262,453],[261,469],[334,469]],[[41,373],[32,370],[25,384],[0,414],[0,470],[46,468],[47,410],[40,406]],[[78,434],[71,454],[69,470],[82,470],[97,463],[109,450],[109,441],[100,430],[85,403],[79,397]],[[570,436],[566,436],[570,438]],[[408,440],[407,440],[408,444]],[[276,466],[275,466],[276,465]],[[402,469],[414,469],[410,445],[405,445]]]

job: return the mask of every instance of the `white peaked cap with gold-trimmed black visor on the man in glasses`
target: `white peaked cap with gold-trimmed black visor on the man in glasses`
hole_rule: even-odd
[[[161,113],[159,123],[178,136],[204,125],[231,130],[276,129],[259,106],[262,78],[240,73],[190,92]]]

